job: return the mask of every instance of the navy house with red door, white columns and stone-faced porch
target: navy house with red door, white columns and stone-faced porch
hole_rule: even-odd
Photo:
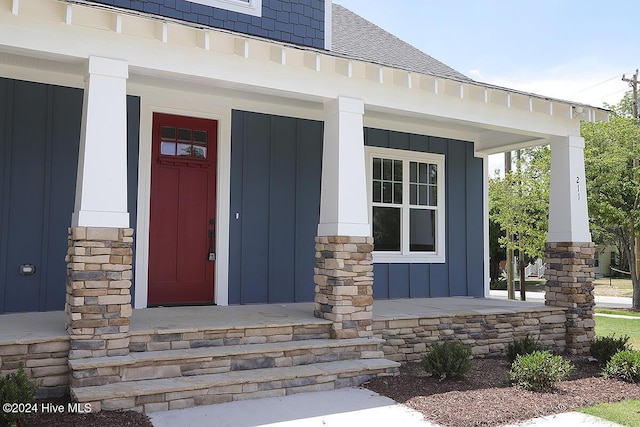
[[[606,118],[330,0],[0,2],[0,313],[61,323],[0,329],[0,368],[153,411],[357,385],[443,339],[585,354],[580,120]],[[488,296],[487,156],[540,144],[547,305],[449,299]]]

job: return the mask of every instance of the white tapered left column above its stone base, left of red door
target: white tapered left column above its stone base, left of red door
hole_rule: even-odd
[[[72,227],[129,227],[124,61],[89,57]]]

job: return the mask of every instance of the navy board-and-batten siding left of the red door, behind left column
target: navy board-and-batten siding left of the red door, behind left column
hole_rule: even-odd
[[[0,313],[64,309],[81,89],[0,78]],[[128,97],[128,203],[136,220],[140,101]],[[33,264],[33,275],[20,275]]]

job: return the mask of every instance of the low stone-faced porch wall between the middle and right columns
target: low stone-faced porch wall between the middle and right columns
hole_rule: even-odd
[[[429,346],[445,340],[471,346],[474,357],[504,355],[507,345],[529,334],[557,352],[565,350],[566,309],[544,307],[494,314],[395,317],[376,319],[373,334],[386,343],[387,359],[415,362]]]

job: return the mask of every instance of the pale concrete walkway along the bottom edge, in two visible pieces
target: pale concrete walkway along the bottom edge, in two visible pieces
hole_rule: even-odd
[[[438,427],[421,413],[362,388],[199,406],[149,414],[155,427]],[[618,427],[579,412],[535,418],[508,427]]]

